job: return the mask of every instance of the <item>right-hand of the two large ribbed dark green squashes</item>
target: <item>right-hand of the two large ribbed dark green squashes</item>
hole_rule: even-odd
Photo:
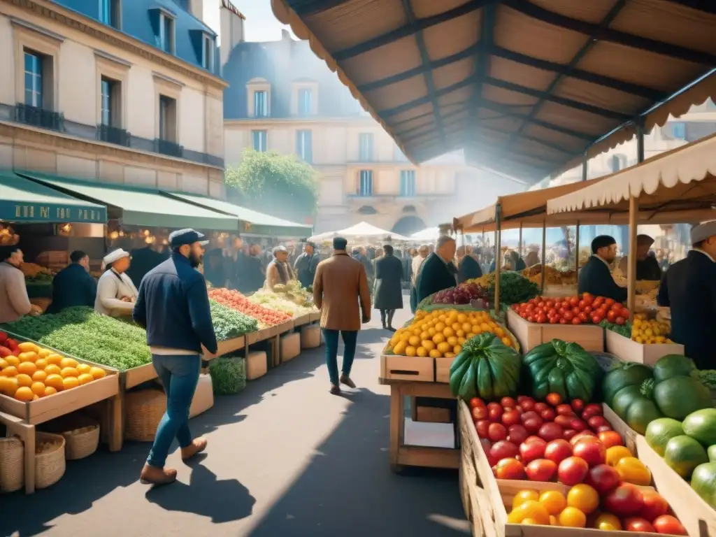
[[[563,400],[591,401],[602,376],[594,356],[579,344],[560,339],[534,347],[523,362],[529,370],[531,393],[537,399],[556,392]]]

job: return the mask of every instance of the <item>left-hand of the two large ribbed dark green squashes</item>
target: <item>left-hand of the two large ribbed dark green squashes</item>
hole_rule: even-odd
[[[516,395],[522,360],[491,332],[468,339],[450,366],[450,391],[465,400]]]

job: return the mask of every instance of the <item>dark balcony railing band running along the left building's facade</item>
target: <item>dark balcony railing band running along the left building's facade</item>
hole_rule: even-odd
[[[144,138],[130,134],[119,127],[108,125],[85,125],[75,121],[66,120],[62,112],[52,112],[40,107],[17,103],[6,105],[0,102],[0,121],[14,121],[23,125],[32,125],[42,129],[64,132],[65,134],[84,138],[85,140],[100,140],[102,142],[131,147],[132,149],[159,153],[169,157],[183,158],[194,163],[224,167],[224,160],[216,155],[200,153],[167,140]]]

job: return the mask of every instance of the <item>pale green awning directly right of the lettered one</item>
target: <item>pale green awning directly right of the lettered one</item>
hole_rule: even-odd
[[[169,198],[162,195],[159,190],[106,183],[100,185],[44,173],[19,173],[25,177],[42,181],[52,188],[58,188],[62,192],[119,208],[122,211],[122,224],[127,226],[196,228],[218,231],[238,229],[238,223],[233,216]]]

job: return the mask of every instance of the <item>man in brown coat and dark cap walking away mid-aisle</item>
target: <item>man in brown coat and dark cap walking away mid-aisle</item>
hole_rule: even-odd
[[[318,263],[313,285],[314,304],[321,309],[326,364],[331,378],[331,393],[334,395],[341,392],[340,384],[356,387],[350,378],[356,340],[361,321],[370,321],[370,291],[365,267],[348,255],[347,243],[342,237],[333,239],[333,256]],[[340,378],[337,359],[339,332],[344,344]]]

